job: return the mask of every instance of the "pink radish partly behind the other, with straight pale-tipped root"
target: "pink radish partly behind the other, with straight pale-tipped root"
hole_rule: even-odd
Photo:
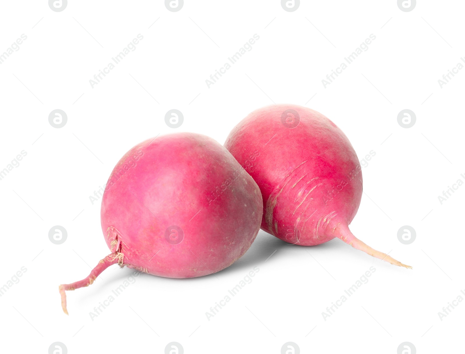
[[[233,128],[225,147],[260,187],[266,232],[301,246],[338,237],[411,268],[350,232],[362,197],[361,167],[347,137],[323,114],[290,104],[260,108]]]

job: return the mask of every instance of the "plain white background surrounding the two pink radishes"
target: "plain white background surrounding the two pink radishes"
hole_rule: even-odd
[[[0,169],[27,152],[0,180],[0,286],[27,268],[0,297],[2,352],[48,353],[55,341],[70,354],[164,353],[171,341],[186,354],[280,353],[287,341],[301,353],[395,354],[404,341],[417,353],[463,352],[465,301],[438,317],[465,289],[465,186],[438,201],[465,180],[465,70],[438,84],[465,55],[462,1],[419,1],[411,12],[394,0],[302,1],[294,12],[278,0],[186,0],[179,12],[148,0],[70,0],[62,12],[44,0],[1,7],[0,53],[27,35],[0,65]],[[138,33],[136,50],[92,88]],[[252,50],[208,88],[255,33]],[[369,49],[325,88],[326,74],[371,33]],[[325,114],[360,159],[376,152],[362,170],[351,230],[413,269],[338,239],[291,247],[260,231],[231,267],[185,280],[142,274],[92,321],[93,307],[131,273],[110,267],[68,293],[63,314],[58,285],[84,278],[108,254],[100,200],[89,196],[120,157],[157,134],[196,132],[223,144],[239,120],[273,102]],[[54,109],[67,114],[62,128],[48,122]],[[170,109],[183,113],[181,127],[166,125]],[[403,109],[416,114],[411,128],[397,122]],[[61,245],[48,239],[54,225],[67,230]],[[397,238],[404,225],[416,230],[410,245]],[[208,321],[206,311],[255,266],[253,281]],[[325,321],[326,307],[371,266],[369,281]]]

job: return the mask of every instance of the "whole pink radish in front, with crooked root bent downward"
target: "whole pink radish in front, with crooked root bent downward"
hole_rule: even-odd
[[[260,229],[257,183],[225,147],[201,134],[146,140],[116,164],[101,206],[104,239],[112,252],[82,281],[86,287],[117,263],[169,278],[213,274],[233,264]]]

